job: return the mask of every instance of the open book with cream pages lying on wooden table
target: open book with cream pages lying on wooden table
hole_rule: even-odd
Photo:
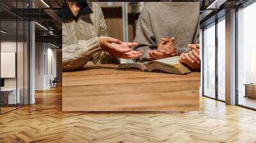
[[[190,73],[191,70],[179,63],[179,56],[167,57],[148,61],[147,63],[124,63],[117,67],[118,70],[139,70],[148,72],[166,72],[176,74]]]

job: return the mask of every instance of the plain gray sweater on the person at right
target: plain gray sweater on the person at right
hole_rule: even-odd
[[[148,51],[156,50],[161,38],[175,38],[178,55],[188,52],[189,43],[199,43],[199,3],[162,2],[145,4],[136,27],[134,50],[144,50],[136,61],[147,61]]]

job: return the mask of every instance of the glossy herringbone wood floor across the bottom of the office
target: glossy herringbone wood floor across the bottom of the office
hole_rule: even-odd
[[[0,116],[0,142],[256,142],[256,112],[200,98],[197,112],[61,112],[61,88]]]

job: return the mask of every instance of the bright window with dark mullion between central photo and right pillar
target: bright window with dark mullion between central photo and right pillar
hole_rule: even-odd
[[[216,21],[203,32],[203,94],[225,101],[225,15]]]

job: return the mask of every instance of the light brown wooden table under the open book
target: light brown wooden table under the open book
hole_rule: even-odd
[[[200,72],[115,70],[115,64],[63,72],[63,111],[198,110]]]

